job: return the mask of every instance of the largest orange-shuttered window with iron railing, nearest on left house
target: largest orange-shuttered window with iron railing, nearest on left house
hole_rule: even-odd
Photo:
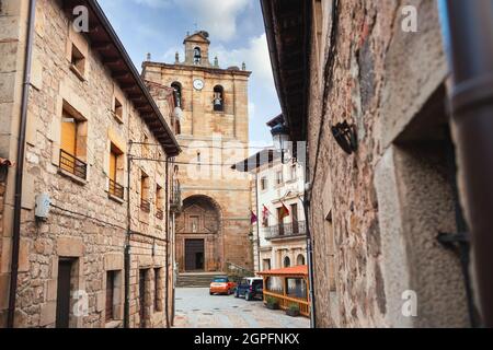
[[[87,121],[68,104],[61,117],[60,170],[82,179],[87,178]]]

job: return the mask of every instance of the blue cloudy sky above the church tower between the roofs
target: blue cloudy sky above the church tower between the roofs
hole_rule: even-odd
[[[250,141],[271,144],[265,122],[280,107],[272,77],[267,42],[259,0],[99,0],[113,27],[140,70],[147,52],[153,61],[183,58],[187,32],[210,34],[210,57],[222,68],[252,70],[250,80]]]

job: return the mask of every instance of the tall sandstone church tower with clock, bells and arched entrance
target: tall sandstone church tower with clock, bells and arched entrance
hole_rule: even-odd
[[[242,68],[221,69],[209,59],[204,31],[184,39],[185,57],[172,65],[146,61],[142,75],[153,86],[175,91],[180,120],[176,159],[183,210],[176,218],[180,272],[252,270],[249,178],[231,170],[248,155],[248,81]]]

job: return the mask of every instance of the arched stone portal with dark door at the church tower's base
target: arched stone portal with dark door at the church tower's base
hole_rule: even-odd
[[[180,272],[222,270],[222,213],[213,198],[194,195],[183,201],[176,218],[176,261]]]

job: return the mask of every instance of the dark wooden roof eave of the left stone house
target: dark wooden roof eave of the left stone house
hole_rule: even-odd
[[[133,102],[149,129],[162,144],[167,155],[179,155],[182,150],[174,133],[98,1],[64,0],[62,4],[68,15],[72,15],[72,10],[77,5],[85,5],[89,9],[89,33],[85,34],[90,40],[90,47],[101,55],[103,63],[112,71],[113,79]]]

